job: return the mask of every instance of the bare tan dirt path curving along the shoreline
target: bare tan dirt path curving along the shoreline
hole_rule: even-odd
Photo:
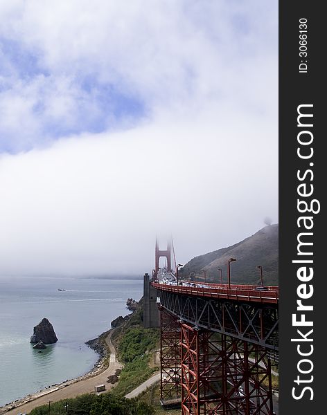
[[[113,331],[111,330],[105,339],[110,351],[110,364],[105,371],[91,377],[89,377],[90,375],[85,375],[75,380],[69,380],[56,387],[51,387],[50,389],[38,392],[37,394],[25,398],[24,403],[21,405],[19,405],[19,403],[14,403],[8,405],[8,407],[11,407],[12,409],[0,409],[0,414],[17,415],[20,412],[22,414],[28,414],[33,408],[40,405],[46,405],[49,401],[56,402],[57,400],[75,398],[78,395],[94,392],[94,387],[97,385],[106,385],[107,391],[112,389],[113,385],[107,383],[107,377],[114,375],[117,369],[123,367],[123,365],[116,360],[116,351],[111,340],[112,332]],[[12,405],[15,405],[15,409]]]

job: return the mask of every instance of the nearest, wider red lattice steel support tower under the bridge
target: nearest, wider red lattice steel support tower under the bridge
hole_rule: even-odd
[[[183,415],[273,414],[266,349],[188,324],[181,347]]]

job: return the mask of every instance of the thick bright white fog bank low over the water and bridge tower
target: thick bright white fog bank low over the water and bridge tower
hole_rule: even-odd
[[[187,261],[276,219],[276,149],[265,154],[264,124],[238,121],[149,124],[3,156],[2,273],[142,273],[156,234],[173,234]]]

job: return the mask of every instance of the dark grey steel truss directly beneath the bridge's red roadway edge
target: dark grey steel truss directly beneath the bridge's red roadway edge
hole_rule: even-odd
[[[244,340],[271,351],[279,349],[278,306],[189,297],[159,291],[161,306],[179,320]],[[274,359],[278,357],[274,353]]]

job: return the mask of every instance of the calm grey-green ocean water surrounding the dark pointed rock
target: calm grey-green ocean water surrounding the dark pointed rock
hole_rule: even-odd
[[[142,295],[141,279],[0,277],[0,406],[91,370],[98,354],[85,342]],[[58,342],[38,353],[29,341],[43,317]]]

